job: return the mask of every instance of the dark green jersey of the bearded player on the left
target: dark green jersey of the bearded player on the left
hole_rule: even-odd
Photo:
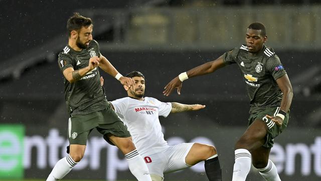
[[[58,64],[62,72],[68,67],[78,70],[88,66],[93,56],[100,57],[99,45],[95,40],[90,41],[88,48],[81,51],[75,51],[67,45],[58,55]],[[107,107],[98,67],[73,83],[64,77],[64,84],[65,100],[71,115],[85,115]]]

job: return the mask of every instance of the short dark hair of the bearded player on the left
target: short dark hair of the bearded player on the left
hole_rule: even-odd
[[[83,17],[79,13],[74,13],[74,16],[70,17],[67,21],[68,37],[70,37],[72,31],[76,30],[78,32],[82,27],[87,28],[90,25],[92,25],[90,18]]]

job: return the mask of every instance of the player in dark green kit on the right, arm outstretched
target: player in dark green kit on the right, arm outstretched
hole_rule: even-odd
[[[292,86],[278,56],[265,46],[267,40],[263,24],[248,26],[245,45],[234,48],[214,61],[181,73],[165,86],[169,96],[188,78],[212,73],[225,65],[236,63],[241,70],[250,98],[249,126],[235,144],[233,181],[246,179],[251,167],[266,180],[280,180],[274,163],[269,160],[273,141],[287,126],[293,98]]]

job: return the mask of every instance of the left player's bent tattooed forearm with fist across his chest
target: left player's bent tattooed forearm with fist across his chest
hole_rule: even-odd
[[[79,80],[81,77],[83,77],[86,73],[88,73],[92,69],[96,68],[99,65],[99,61],[100,59],[97,56],[91,57],[89,59],[88,66],[78,70],[74,70],[73,67],[69,67],[63,71],[63,74],[70,83],[73,83]]]

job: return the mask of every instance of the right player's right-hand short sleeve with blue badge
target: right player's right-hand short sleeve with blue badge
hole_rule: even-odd
[[[286,74],[284,66],[277,55],[267,60],[266,69],[273,76],[274,80]]]

